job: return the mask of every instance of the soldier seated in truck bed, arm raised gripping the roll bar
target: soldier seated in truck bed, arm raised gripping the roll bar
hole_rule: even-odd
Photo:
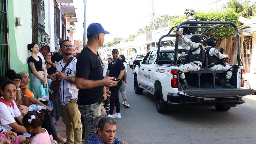
[[[201,38],[198,35],[193,35],[190,40],[182,35],[180,31],[176,32],[184,42],[188,43],[190,46],[188,55],[186,56],[186,63],[178,67],[178,74],[179,78],[181,79],[181,88],[186,89],[188,88],[187,80],[185,79],[184,72],[190,71],[200,71],[202,64],[204,62],[204,49],[201,45]]]

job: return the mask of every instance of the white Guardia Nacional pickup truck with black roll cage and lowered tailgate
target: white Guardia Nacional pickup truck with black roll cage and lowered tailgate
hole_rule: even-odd
[[[208,58],[199,72],[185,73],[189,89],[178,89],[178,67],[181,62],[177,57],[181,55],[182,48],[174,45],[173,48],[152,49],[146,54],[141,64],[134,67],[134,91],[136,94],[142,94],[146,90],[154,95],[156,107],[159,113],[165,113],[168,105],[210,105],[215,106],[219,111],[227,111],[231,107],[240,105],[245,101],[242,96],[253,94],[252,89],[242,89],[244,82],[242,81],[242,65],[240,57],[240,41],[236,25],[232,22],[182,22],[174,26],[164,37],[176,37],[178,43],[178,35],[170,34],[174,28],[186,28],[184,24],[212,24],[212,26],[204,26],[208,30],[218,28],[219,26],[229,24],[236,30],[237,37],[237,64],[233,65],[233,76],[231,84],[236,88],[223,88],[226,73],[223,71],[210,71],[208,69]],[[191,27],[191,26],[190,26]],[[198,26],[197,26],[198,27]],[[201,37],[207,38],[204,31]],[[220,78],[221,77],[221,78]]]

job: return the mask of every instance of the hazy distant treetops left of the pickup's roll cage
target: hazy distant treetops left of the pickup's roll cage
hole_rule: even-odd
[[[170,15],[160,15],[157,18],[155,18],[155,29],[158,30],[162,27],[169,26],[170,21],[174,18],[174,16]],[[144,26],[143,28],[140,28],[137,31],[138,35],[146,34],[148,32],[151,32],[154,30],[154,20],[151,19],[149,24],[147,26]]]

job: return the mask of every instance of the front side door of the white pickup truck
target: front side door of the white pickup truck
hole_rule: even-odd
[[[144,75],[144,71],[147,68],[147,64],[148,64],[148,59],[150,56],[151,52],[148,52],[145,56],[145,58],[143,59],[141,65],[140,65],[140,70],[138,73],[138,82],[140,84],[140,86],[142,86],[143,88],[147,89],[146,87],[146,75]]]

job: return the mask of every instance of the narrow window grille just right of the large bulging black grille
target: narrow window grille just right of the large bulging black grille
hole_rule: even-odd
[[[60,39],[60,9],[56,0],[54,0],[54,33]]]

